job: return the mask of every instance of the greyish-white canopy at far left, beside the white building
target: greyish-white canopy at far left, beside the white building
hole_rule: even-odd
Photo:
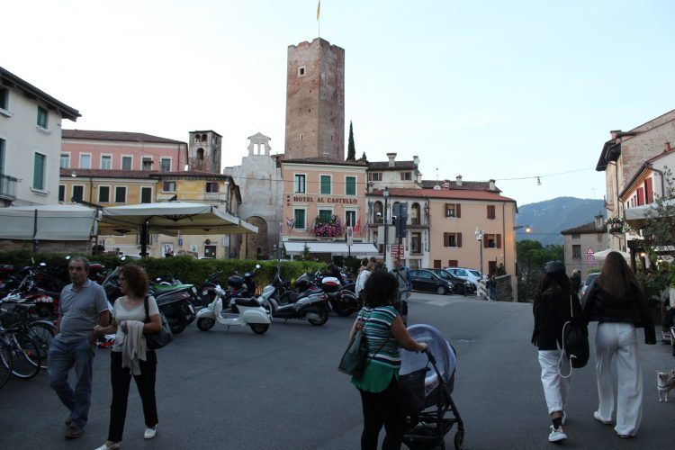
[[[71,204],[0,208],[0,238],[89,240],[96,234],[97,212]]]

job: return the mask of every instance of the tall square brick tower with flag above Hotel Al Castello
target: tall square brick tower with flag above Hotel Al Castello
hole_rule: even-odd
[[[317,38],[288,47],[284,159],[345,159],[345,49]]]

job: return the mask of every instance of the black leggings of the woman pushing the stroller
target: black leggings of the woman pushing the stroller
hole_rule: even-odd
[[[364,432],[361,434],[362,450],[376,450],[377,438],[384,426],[386,435],[383,450],[398,450],[403,440],[405,411],[399,394],[399,382],[392,376],[392,383],[383,392],[365,392],[360,389],[364,410]]]

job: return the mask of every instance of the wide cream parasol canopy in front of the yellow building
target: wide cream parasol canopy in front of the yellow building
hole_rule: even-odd
[[[101,234],[149,232],[180,234],[257,233],[257,227],[210,204],[193,202],[139,203],[103,208]]]

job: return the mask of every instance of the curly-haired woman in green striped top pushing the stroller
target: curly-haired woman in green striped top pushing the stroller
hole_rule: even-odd
[[[401,354],[399,347],[423,352],[428,345],[410,337],[401,315],[392,306],[399,295],[396,277],[387,272],[375,271],[365,282],[362,296],[364,308],[356,318],[349,339],[356,329],[363,327],[368,340],[369,363],[363,376],[352,377],[352,383],[361,394],[364,430],[361,434],[362,450],[375,450],[378,436],[384,427],[382,448],[401,448],[405,427],[405,410],[399,392]]]

